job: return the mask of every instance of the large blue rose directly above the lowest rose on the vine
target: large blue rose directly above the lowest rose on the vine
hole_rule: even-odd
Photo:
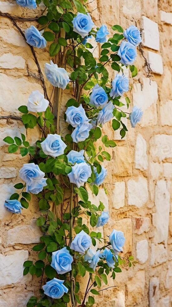
[[[70,272],[72,267],[73,257],[66,247],[61,248],[59,251],[52,253],[51,266],[54,268],[58,274],[65,274]]]

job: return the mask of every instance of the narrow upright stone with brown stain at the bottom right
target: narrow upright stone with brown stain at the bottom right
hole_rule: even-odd
[[[152,277],[149,282],[149,306],[155,307],[159,301],[159,278]]]

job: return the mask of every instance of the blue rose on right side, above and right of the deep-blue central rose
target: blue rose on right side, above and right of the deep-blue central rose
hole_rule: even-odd
[[[125,75],[117,74],[112,81],[112,90],[110,97],[113,99],[118,96],[122,96],[124,92],[129,90],[129,80]]]

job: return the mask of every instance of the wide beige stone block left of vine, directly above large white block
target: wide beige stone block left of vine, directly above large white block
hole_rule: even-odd
[[[14,245],[15,243],[32,244],[40,242],[42,232],[36,226],[34,220],[30,221],[30,225],[16,226],[7,231],[6,242],[7,246]]]

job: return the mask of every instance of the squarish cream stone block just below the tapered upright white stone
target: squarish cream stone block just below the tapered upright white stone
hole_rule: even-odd
[[[138,177],[137,181],[129,179],[128,205],[142,207],[148,201],[148,183],[146,178]]]

